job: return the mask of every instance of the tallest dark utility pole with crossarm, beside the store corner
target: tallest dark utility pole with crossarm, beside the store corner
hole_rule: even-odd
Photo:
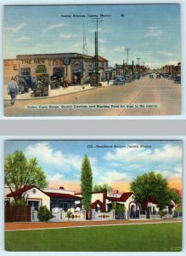
[[[99,24],[103,21],[103,19],[93,18],[92,21],[96,24],[96,32],[95,32],[95,74],[96,74],[96,86],[99,86]]]

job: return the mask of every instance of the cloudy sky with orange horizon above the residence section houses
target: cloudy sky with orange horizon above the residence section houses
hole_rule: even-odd
[[[161,173],[170,188],[182,193],[182,141],[6,141],[5,156],[23,150],[36,157],[48,178],[48,187],[80,192],[82,159],[87,154],[93,184],[109,184],[120,192],[145,172]]]

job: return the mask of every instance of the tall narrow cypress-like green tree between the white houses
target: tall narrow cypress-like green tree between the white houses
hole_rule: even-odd
[[[88,217],[88,212],[90,211],[90,205],[92,200],[93,173],[90,161],[87,158],[87,154],[84,155],[84,158],[82,160],[81,189],[82,205],[86,210],[86,215]]]

